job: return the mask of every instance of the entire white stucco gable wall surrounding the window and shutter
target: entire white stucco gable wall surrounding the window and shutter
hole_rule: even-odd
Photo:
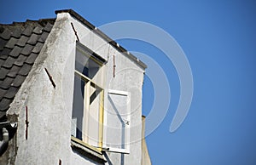
[[[8,111],[9,116],[18,115],[15,164],[58,164],[59,160],[62,164],[96,164],[74,153],[70,147],[76,49],[71,22],[78,32],[80,43],[108,60],[105,88],[131,92],[131,153],[107,152],[106,164],[139,165],[142,156],[143,69],[67,13],[57,15],[44,48]],[[113,54],[116,61],[114,78]],[[53,78],[55,88],[44,68]],[[25,139],[26,106],[28,139]]]

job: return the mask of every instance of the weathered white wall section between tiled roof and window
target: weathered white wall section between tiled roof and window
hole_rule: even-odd
[[[32,71],[8,111],[17,114],[15,164],[70,164],[70,117],[73,96],[75,37],[69,15],[58,16]],[[55,88],[44,70],[52,77]],[[26,139],[26,107],[28,139]]]

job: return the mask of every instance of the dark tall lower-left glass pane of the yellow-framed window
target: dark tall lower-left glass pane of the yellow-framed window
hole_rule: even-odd
[[[76,127],[73,135],[82,139],[83,117],[84,117],[84,80],[75,74],[74,90],[73,90],[73,113],[72,113],[72,128]],[[75,123],[76,122],[76,123]]]

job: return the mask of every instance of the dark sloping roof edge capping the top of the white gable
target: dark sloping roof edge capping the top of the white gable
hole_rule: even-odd
[[[73,9],[62,9],[62,10],[55,10],[55,14],[61,14],[61,13],[69,13],[71,14],[74,18],[79,20],[84,26],[87,26],[90,30],[94,31],[97,35],[102,37],[105,41],[107,41],[109,44],[111,44],[114,48],[117,48],[120,53],[125,54],[128,58],[136,62],[138,65],[140,65],[144,70],[147,68],[147,65],[143,63],[142,60],[139,60],[135,55],[131,54],[128,52],[125,48],[120,46],[118,43],[113,41],[108,35],[103,33],[101,30],[96,28],[96,26],[93,26],[88,20],[85,20],[81,15],[73,11]]]

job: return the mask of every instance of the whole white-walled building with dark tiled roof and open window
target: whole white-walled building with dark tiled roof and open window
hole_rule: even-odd
[[[0,164],[151,164],[146,65],[73,10],[0,25]]]

